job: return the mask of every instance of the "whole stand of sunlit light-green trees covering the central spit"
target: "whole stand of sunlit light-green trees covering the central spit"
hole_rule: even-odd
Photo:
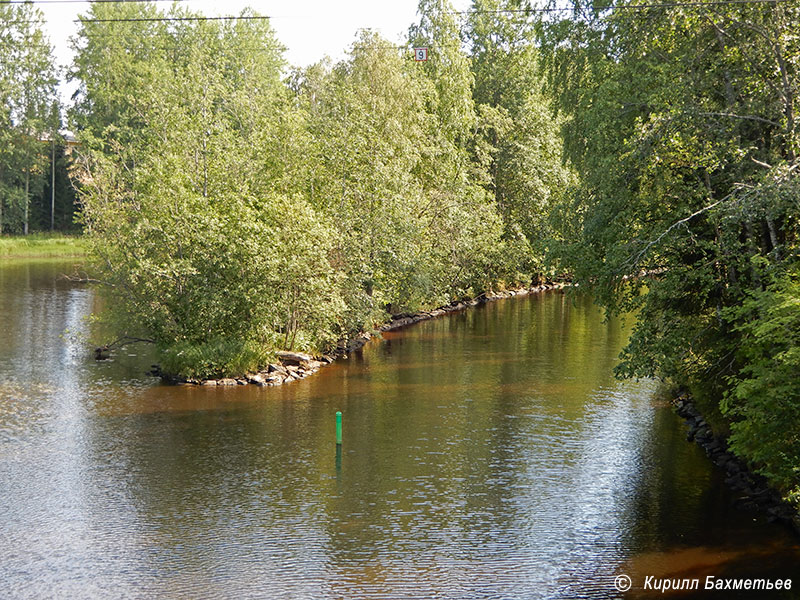
[[[390,313],[534,277],[526,236],[541,231],[517,212],[557,190],[504,166],[503,189],[520,189],[491,193],[485,111],[447,2],[424,0],[409,33],[427,62],[362,32],[347,60],[285,78],[268,21],[163,14],[92,5],[71,118],[112,304],[168,369],[240,374],[271,350],[326,350]],[[536,78],[523,71],[519,87]],[[537,146],[549,166],[528,160],[562,172],[543,98],[520,94],[514,118],[535,98],[531,122],[553,142]]]

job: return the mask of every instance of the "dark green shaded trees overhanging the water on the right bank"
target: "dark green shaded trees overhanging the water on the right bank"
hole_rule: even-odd
[[[620,374],[721,399],[732,448],[797,494],[800,3],[624,4],[543,23],[581,173],[557,256],[638,311]]]

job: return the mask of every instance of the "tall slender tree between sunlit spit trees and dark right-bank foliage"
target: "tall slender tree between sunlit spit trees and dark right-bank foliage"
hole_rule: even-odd
[[[528,2],[474,0],[465,39],[471,46],[478,106],[475,160],[503,215],[516,267],[534,273],[553,236],[552,205],[573,183],[564,166],[559,122],[544,92]],[[513,263],[511,263],[513,264]]]

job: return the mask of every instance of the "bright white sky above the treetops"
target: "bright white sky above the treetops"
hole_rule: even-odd
[[[455,10],[471,4],[471,0],[451,2]],[[236,15],[248,6],[270,16],[278,39],[287,47],[286,59],[294,66],[307,66],[325,55],[343,58],[359,29],[374,29],[390,41],[405,43],[408,27],[417,19],[417,0],[183,0],[181,4],[208,16]],[[166,8],[169,3],[159,5]],[[51,0],[36,6],[44,13],[57,62],[69,64],[73,21],[88,10],[89,2]],[[72,91],[62,88],[62,99],[67,101]]]

